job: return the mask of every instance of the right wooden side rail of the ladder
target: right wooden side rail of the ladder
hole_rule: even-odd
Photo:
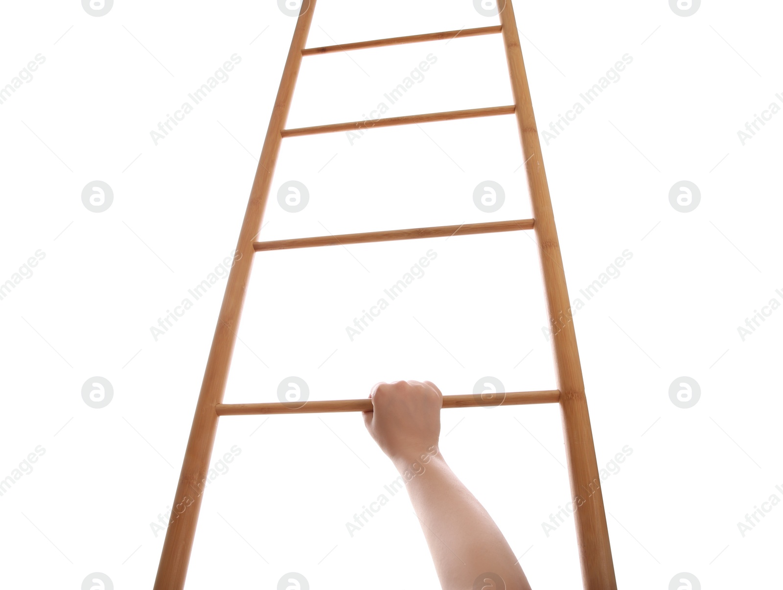
[[[572,499],[575,505],[578,505],[574,521],[583,585],[586,590],[616,590],[612,549],[606,527],[590,415],[587,412],[582,366],[576,346],[576,331],[514,8],[511,0],[499,0],[498,8],[511,75],[511,89],[517,107],[522,158],[526,162],[533,217],[536,220],[536,237],[543,284],[547,291],[547,308],[552,323],[552,346],[557,369],[557,388],[561,391],[560,406],[568,472]],[[579,498],[582,501],[579,501]]]

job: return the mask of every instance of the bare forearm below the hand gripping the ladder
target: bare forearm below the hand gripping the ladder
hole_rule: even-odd
[[[470,590],[486,572],[500,576],[507,590],[529,590],[500,529],[438,451],[394,463],[406,480],[444,590]]]

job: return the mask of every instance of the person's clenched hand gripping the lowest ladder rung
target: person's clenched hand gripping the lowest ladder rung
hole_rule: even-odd
[[[410,463],[438,453],[443,394],[435,383],[376,383],[370,397],[373,411],[364,412],[364,425],[393,462]]]

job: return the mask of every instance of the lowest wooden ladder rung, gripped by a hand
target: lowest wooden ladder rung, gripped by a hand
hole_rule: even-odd
[[[497,393],[482,398],[472,394],[443,396],[442,407],[516,406],[521,404],[557,404],[560,391],[519,391]],[[218,416],[246,416],[250,414],[317,414],[320,412],[366,412],[372,411],[373,400],[323,400],[298,402],[275,402],[272,404],[216,404]]]

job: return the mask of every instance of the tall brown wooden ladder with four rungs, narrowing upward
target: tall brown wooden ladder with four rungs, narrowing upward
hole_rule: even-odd
[[[576,507],[575,523],[579,544],[579,559],[586,590],[615,590],[615,571],[612,551],[604,514],[601,480],[595,458],[593,433],[584,393],[582,367],[576,347],[576,332],[571,321],[571,309],[565,284],[565,273],[554,226],[554,214],[550,201],[547,175],[543,168],[536,118],[528,88],[525,63],[519,45],[519,34],[511,0],[498,0],[500,26],[444,31],[442,33],[417,34],[408,37],[378,39],[374,41],[331,45],[305,49],[316,0],[303,0],[294,38],[283,69],[283,78],[277,92],[269,129],[266,132],[261,159],[247,204],[236,252],[239,259],[233,266],[226,284],[226,294],[215,328],[215,337],[204,371],[196,414],[182,462],[182,472],[172,503],[171,520],[158,566],[154,590],[182,590],[185,586],[190,551],[201,506],[204,483],[218,428],[218,417],[237,414],[279,414],[329,411],[370,411],[369,398],[360,400],[308,401],[306,404],[222,404],[226,378],[236,343],[236,330],[244,304],[247,282],[250,278],[255,252],[282,248],[309,248],[330,244],[359,244],[363,242],[410,240],[424,237],[446,237],[470,233],[490,233],[515,230],[534,230],[539,244],[539,259],[543,284],[547,291],[547,309],[558,329],[552,337],[554,361],[557,372],[557,389],[551,391],[507,393],[503,404],[559,403],[561,407],[565,448],[568,457],[568,475],[571,480],[572,500]],[[421,114],[406,117],[385,118],[377,121],[355,121],[336,125],[322,125],[287,129],[285,124],[290,109],[294,85],[298,78],[303,56],[316,56],[328,52],[366,49],[385,45],[416,43],[469,37],[480,34],[502,34],[506,47],[508,70],[514,104],[507,107],[490,107],[471,110],[455,110],[445,113]],[[529,192],[532,200],[533,219],[521,219],[495,223],[473,223],[462,226],[423,227],[409,230],[390,230],[370,233],[352,233],[339,236],[307,237],[294,240],[254,241],[261,228],[264,209],[269,196],[269,185],[275,169],[280,143],[283,137],[359,130],[388,125],[409,125],[429,121],[448,121],[461,118],[488,117],[500,114],[516,114],[521,137],[522,155],[525,158]],[[236,258],[236,256],[235,256]],[[565,318],[565,322],[562,319]],[[496,405],[497,400],[476,399],[472,395],[443,397],[443,407],[468,407]]]

